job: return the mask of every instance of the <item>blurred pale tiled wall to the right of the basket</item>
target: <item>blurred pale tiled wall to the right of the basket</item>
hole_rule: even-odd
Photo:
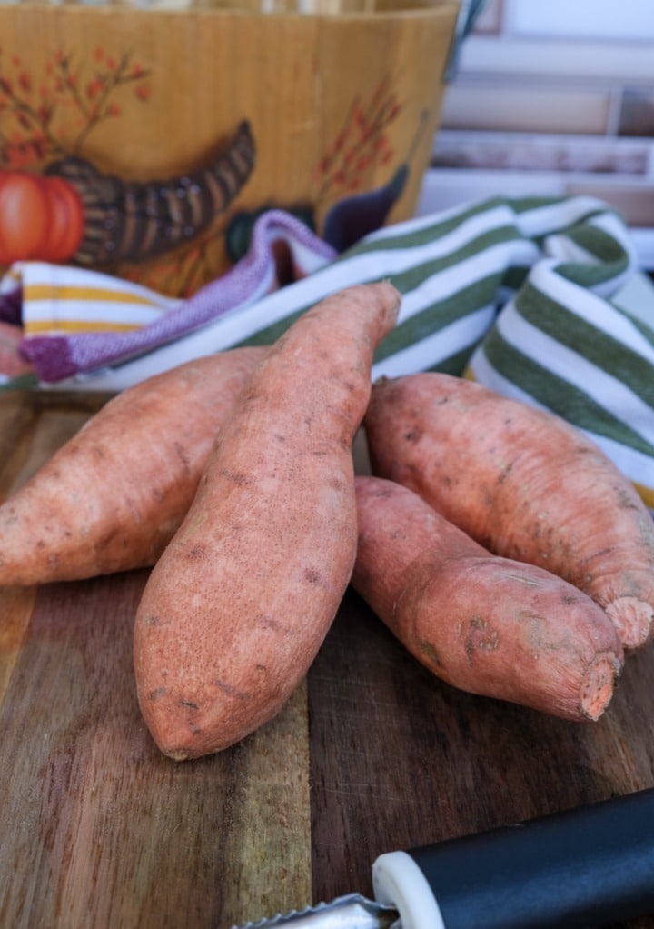
[[[652,0],[487,0],[448,86],[430,183],[591,193],[654,227]]]

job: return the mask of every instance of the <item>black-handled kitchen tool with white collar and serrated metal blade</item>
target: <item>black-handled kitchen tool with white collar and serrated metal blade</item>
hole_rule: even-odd
[[[372,884],[375,900],[242,929],[588,929],[654,914],[654,789],[385,853]]]

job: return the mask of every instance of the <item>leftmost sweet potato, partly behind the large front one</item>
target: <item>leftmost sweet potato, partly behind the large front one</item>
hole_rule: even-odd
[[[0,584],[154,564],[264,348],[188,361],[102,407],[0,506]]]

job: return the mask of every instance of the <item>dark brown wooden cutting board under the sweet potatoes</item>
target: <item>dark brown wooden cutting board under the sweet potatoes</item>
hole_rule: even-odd
[[[96,405],[2,395],[0,499]],[[0,589],[2,927],[226,929],[370,895],[384,851],[654,786],[653,650],[575,726],[443,685],[351,592],[276,720],[174,763],[135,699],[146,580]]]

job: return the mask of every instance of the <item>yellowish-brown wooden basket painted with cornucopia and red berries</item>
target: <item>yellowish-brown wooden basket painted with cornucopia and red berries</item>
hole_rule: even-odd
[[[458,11],[0,6],[0,268],[183,295],[270,207],[339,250],[411,216]]]

